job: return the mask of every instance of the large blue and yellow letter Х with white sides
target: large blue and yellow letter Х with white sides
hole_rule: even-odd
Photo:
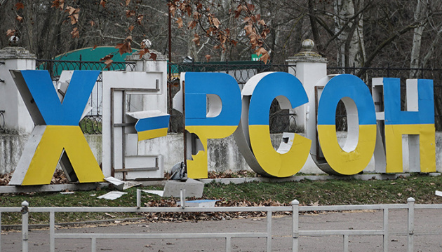
[[[104,176],[79,122],[100,71],[74,71],[59,98],[48,71],[11,71],[35,127],[10,185],[51,183],[58,162],[70,181],[91,183]]]

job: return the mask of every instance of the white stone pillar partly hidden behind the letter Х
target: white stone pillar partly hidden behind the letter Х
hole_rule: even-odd
[[[29,112],[9,72],[35,69],[36,56],[25,48],[6,47],[0,50],[0,110],[4,112],[5,128],[12,134],[29,134],[34,129]]]

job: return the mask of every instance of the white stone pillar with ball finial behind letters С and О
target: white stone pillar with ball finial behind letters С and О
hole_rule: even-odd
[[[314,97],[312,95],[314,93],[314,85],[316,85],[318,80],[327,76],[327,59],[313,52],[313,48],[314,42],[311,39],[306,39],[302,41],[302,50],[293,57],[288,57],[286,60],[289,65],[288,73],[293,74],[301,81],[309,99],[310,97]],[[293,112],[296,113],[297,130],[305,132],[305,125],[307,124],[307,105],[290,111],[290,113]],[[292,122],[290,122],[290,124],[291,123]],[[290,125],[290,127],[291,126],[293,125]]]

